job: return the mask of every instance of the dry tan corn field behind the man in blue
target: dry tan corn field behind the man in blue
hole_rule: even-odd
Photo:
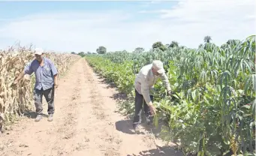
[[[65,74],[71,64],[81,58],[80,55],[69,53],[47,52],[44,55],[56,65],[59,76]],[[14,79],[33,59],[31,50],[23,47],[0,50],[0,127],[4,119],[5,122],[10,122],[11,118],[34,106],[32,95],[35,84],[34,74],[32,78],[26,75],[17,84],[17,88],[11,88]]]

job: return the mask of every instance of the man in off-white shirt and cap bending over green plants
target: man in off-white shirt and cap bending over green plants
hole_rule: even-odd
[[[141,124],[141,110],[144,102],[144,112],[146,114],[146,121],[148,124],[152,123],[152,115],[155,115],[155,107],[153,106],[153,86],[158,78],[164,83],[167,89],[167,94],[171,95],[170,83],[164,71],[164,65],[161,61],[155,60],[152,64],[145,65],[140,69],[139,74],[135,78],[135,115],[133,126],[135,131],[139,130]]]

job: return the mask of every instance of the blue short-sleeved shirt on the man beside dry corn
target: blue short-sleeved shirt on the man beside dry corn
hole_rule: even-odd
[[[57,69],[49,58],[44,59],[44,66],[40,66],[38,60],[33,60],[25,68],[25,74],[31,75],[35,72],[35,89],[46,90],[53,87],[54,75],[58,74]]]

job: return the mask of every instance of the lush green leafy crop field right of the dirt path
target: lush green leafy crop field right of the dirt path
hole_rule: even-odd
[[[155,125],[166,122],[162,139],[178,142],[185,155],[254,155],[255,36],[198,49],[86,55],[95,72],[128,95],[119,104],[126,115],[134,112],[135,74],[154,59],[164,62],[176,93],[170,99],[161,80],[155,85]]]

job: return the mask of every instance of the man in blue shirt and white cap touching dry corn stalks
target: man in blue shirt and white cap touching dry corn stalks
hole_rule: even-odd
[[[58,71],[53,65],[53,62],[43,56],[43,49],[35,49],[35,59],[26,66],[25,70],[14,80],[13,85],[16,85],[18,81],[25,74],[35,73],[35,108],[38,113],[35,121],[40,121],[43,115],[42,98],[46,99],[48,103],[48,121],[53,121],[54,113],[54,91],[58,87],[57,74]]]

